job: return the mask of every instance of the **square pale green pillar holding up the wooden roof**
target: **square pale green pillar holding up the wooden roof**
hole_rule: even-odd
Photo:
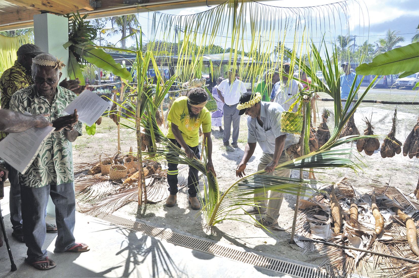
[[[39,48],[68,65],[68,50],[62,46],[68,41],[68,18],[51,13],[34,15],[34,37]],[[61,71],[64,79],[67,67]]]

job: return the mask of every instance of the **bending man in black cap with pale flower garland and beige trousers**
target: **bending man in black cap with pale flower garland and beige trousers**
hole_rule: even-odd
[[[281,131],[281,113],[284,108],[278,103],[261,101],[260,93],[247,92],[243,94],[237,106],[239,115],[246,114],[248,135],[243,158],[236,169],[236,176],[243,177],[246,163],[250,160],[259,143],[263,154],[258,165],[258,171],[265,170],[266,175],[290,178],[290,169],[275,170],[275,167],[288,161],[285,150],[293,143],[292,136]],[[256,197],[267,197],[267,193],[255,194]],[[268,200],[261,200],[259,206],[246,210],[246,214],[265,214],[256,222],[256,227],[271,227],[280,230],[278,226],[279,209],[281,208],[283,193],[271,191]],[[257,203],[258,201],[255,201]]]

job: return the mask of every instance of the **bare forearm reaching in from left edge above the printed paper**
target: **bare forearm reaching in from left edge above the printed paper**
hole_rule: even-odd
[[[0,131],[13,133],[25,131],[34,126],[52,126],[45,116],[48,114],[26,116],[11,110],[0,109]]]

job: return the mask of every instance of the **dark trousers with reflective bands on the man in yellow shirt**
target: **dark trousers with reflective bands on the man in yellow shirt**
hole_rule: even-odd
[[[176,144],[179,148],[181,145],[175,140],[175,139],[169,139],[173,144]],[[199,159],[199,145],[196,147],[189,148],[192,150],[192,152],[195,153],[197,158]],[[170,158],[176,157],[178,155],[176,154],[168,154],[166,157],[167,160],[167,183],[169,184],[169,192],[171,195],[175,195],[178,193],[178,164],[171,163]],[[192,166],[189,166],[189,174],[188,174],[188,193],[190,197],[196,197],[197,196],[197,186],[198,186],[198,170],[195,169]]]

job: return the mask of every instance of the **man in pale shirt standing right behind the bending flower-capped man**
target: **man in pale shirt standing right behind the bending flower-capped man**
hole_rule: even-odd
[[[282,67],[284,72],[289,75],[291,67],[290,63],[285,63]],[[288,111],[291,104],[295,101],[295,99],[291,98],[302,90],[303,85],[301,85],[300,82],[294,79],[288,80],[288,77],[283,75],[282,81],[278,81],[272,89],[271,101],[279,103],[285,111]],[[293,111],[297,112],[297,106],[294,106]]]

